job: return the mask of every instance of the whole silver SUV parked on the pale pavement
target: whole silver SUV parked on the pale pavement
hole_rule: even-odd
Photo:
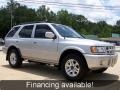
[[[5,37],[3,51],[13,68],[23,60],[53,64],[69,80],[80,80],[88,71],[102,73],[118,57],[114,45],[85,39],[71,27],[55,23],[14,26]]]

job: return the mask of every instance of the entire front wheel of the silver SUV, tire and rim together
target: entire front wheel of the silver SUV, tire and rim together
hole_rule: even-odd
[[[70,81],[79,81],[85,76],[87,67],[85,66],[83,58],[79,55],[69,54],[63,58],[61,70],[66,79]]]

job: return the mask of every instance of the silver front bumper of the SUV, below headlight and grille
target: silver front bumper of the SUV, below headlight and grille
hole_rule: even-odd
[[[89,55],[84,54],[88,68],[97,70],[104,67],[113,67],[117,63],[118,54],[114,55]]]

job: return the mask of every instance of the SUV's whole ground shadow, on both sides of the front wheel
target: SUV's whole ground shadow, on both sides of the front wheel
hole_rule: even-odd
[[[9,65],[2,65],[5,68],[12,69]],[[46,77],[45,80],[65,80],[62,72],[49,65],[40,65],[36,63],[24,63],[22,68],[14,69],[38,76]],[[84,80],[95,82],[96,87],[110,85],[118,80],[119,76],[109,73],[88,73]],[[83,80],[83,81],[84,81]]]

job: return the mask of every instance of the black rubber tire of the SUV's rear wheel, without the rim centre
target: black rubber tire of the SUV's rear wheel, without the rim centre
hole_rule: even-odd
[[[15,54],[15,63],[13,64],[12,61],[10,60],[10,57],[12,54]],[[9,52],[8,52],[8,61],[9,61],[9,65],[12,67],[12,68],[19,68],[21,67],[22,65],[22,59],[21,59],[21,56],[20,54],[18,53],[18,51],[16,49],[11,49]]]

